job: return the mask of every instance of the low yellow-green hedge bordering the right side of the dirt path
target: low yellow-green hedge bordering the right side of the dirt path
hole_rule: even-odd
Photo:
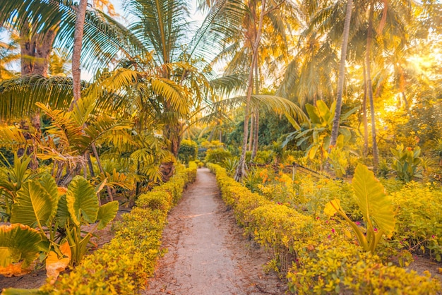
[[[384,265],[377,255],[364,253],[345,224],[306,216],[293,208],[251,193],[215,172],[222,198],[234,209],[246,233],[264,246],[273,259],[268,267],[287,275],[289,290],[297,294],[436,294],[441,289],[430,275]]]

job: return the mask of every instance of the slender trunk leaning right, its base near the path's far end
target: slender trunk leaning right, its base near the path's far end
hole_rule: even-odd
[[[246,175],[246,149],[247,149],[247,138],[249,136],[249,128],[247,122],[249,122],[249,109],[250,100],[253,90],[253,68],[255,68],[256,62],[258,61],[258,47],[261,42],[261,31],[263,28],[263,19],[265,14],[265,0],[261,1],[261,15],[259,16],[258,32],[256,32],[255,42],[253,42],[252,52],[253,56],[251,59],[251,66],[249,71],[249,80],[246,95],[246,108],[244,110],[244,134],[242,140],[242,150],[241,157],[239,158],[239,164],[237,171],[235,173],[234,179],[236,181],[241,181],[243,176]]]

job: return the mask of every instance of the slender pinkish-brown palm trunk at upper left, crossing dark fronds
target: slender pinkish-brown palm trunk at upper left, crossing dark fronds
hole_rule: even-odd
[[[73,107],[80,100],[81,96],[81,44],[83,43],[83,28],[85,26],[86,8],[88,7],[88,0],[80,0],[77,7],[77,17],[75,24],[75,31],[73,33],[73,53],[72,53],[72,82],[73,82],[73,100],[69,106],[68,111],[71,112]]]

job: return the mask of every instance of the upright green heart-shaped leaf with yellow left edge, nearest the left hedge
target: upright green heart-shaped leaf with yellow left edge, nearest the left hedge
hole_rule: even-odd
[[[79,227],[81,222],[97,220],[98,199],[93,186],[81,176],[73,178],[66,192],[66,202],[72,221]]]

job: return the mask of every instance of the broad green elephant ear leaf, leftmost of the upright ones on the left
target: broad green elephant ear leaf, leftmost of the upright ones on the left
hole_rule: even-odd
[[[16,203],[12,205],[11,223],[42,228],[56,212],[56,199],[32,179],[23,183],[17,192]]]

